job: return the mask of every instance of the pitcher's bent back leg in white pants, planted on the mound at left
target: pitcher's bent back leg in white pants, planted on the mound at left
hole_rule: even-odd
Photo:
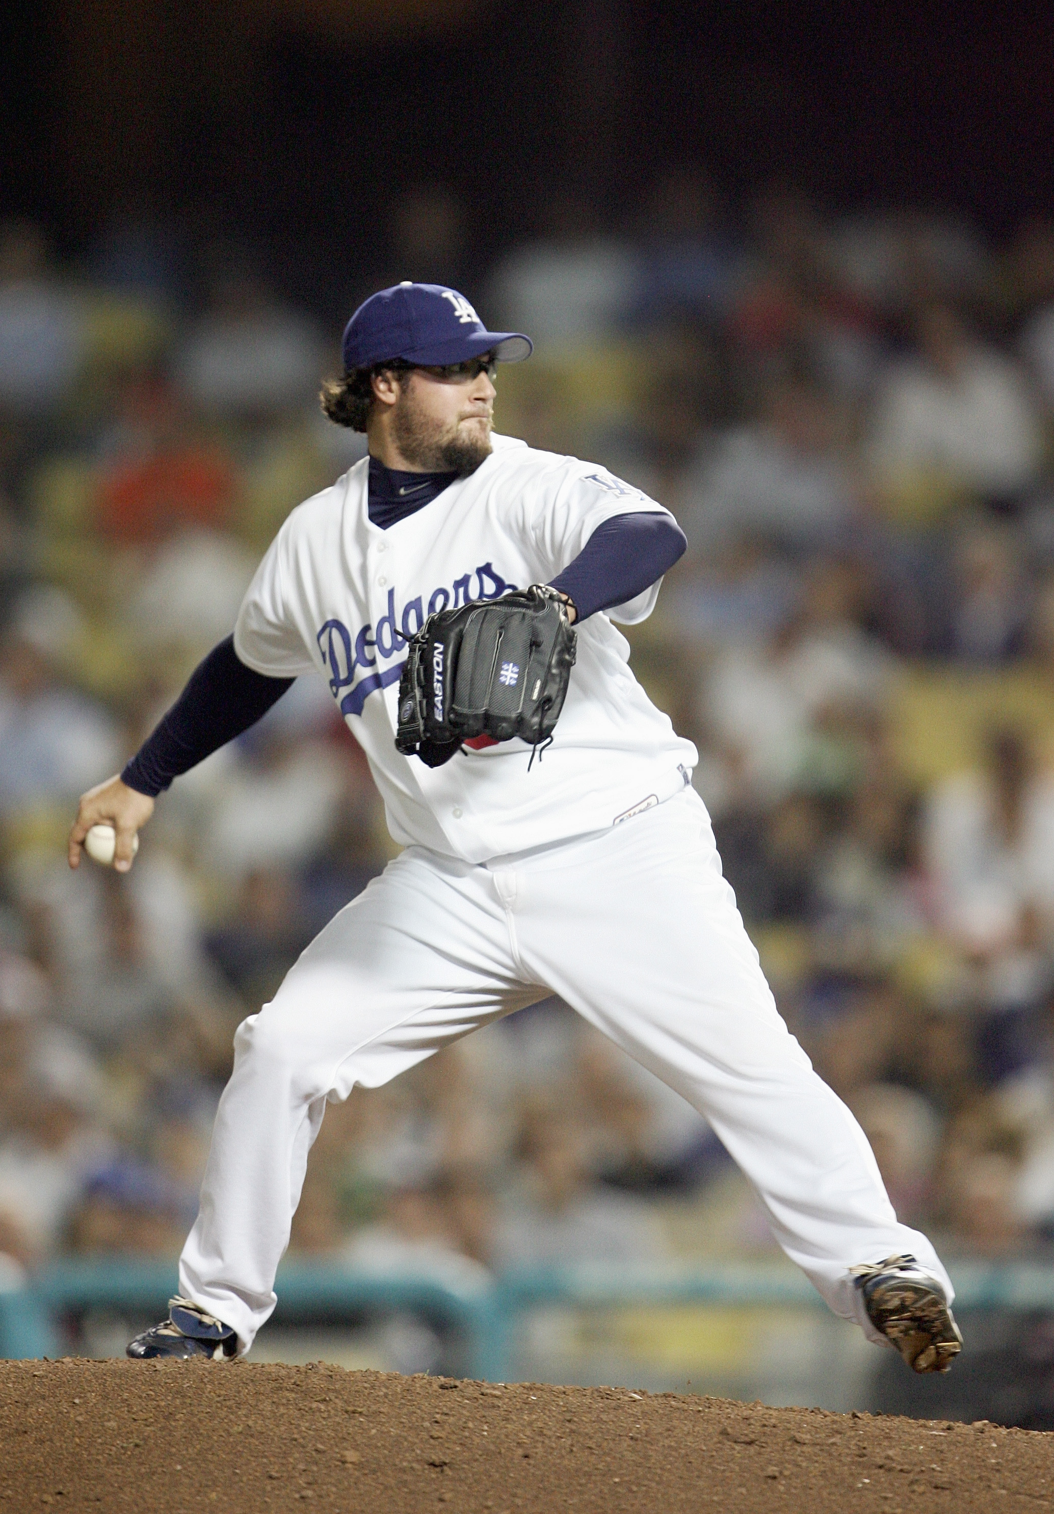
[[[485,869],[416,848],[391,863],[238,1030],[173,1322],[192,1332],[189,1305],[247,1350],[276,1304],[274,1273],[327,1099],[347,1098],[356,1083],[380,1087],[545,993],[524,989]],[[194,1349],[170,1337],[153,1346],[150,1355]]]

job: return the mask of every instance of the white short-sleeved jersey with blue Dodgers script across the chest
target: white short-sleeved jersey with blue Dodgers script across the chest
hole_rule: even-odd
[[[480,863],[603,830],[689,781],[695,746],[651,704],[612,624],[644,621],[659,583],[577,628],[554,742],[530,772],[521,740],[435,769],[395,749],[406,640],[430,612],[548,583],[603,521],[668,510],[595,463],[503,436],[476,472],[386,530],[370,521],[366,489],[363,459],[289,515],[248,587],[235,650],[273,677],[323,674],[400,845]]]

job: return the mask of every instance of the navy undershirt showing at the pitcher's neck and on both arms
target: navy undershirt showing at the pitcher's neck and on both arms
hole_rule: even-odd
[[[459,475],[412,474],[370,459],[368,512],[388,530],[430,504]],[[575,607],[575,624],[615,604],[627,604],[672,568],[684,551],[680,527],[657,512],[616,515],[592,533],[583,550],[553,578]],[[198,663],[176,704],[162,716],[121,778],[151,796],[210,752],[241,736],[267,715],[294,683],[247,668],[227,636]]]

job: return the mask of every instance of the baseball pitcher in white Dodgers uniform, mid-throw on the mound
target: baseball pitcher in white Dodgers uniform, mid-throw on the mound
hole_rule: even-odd
[[[836,1314],[943,1372],[948,1275],[780,1019],[695,748],[628,668],[618,624],[684,537],[604,468],[494,435],[497,365],[530,350],[436,285],[356,310],[323,404],[370,456],[289,515],[233,636],[80,801],[70,864],[109,822],[126,871],[173,778],[315,674],[403,848],[238,1030],[180,1296],[129,1355],[247,1352],[327,1101],[556,993],[707,1117]]]

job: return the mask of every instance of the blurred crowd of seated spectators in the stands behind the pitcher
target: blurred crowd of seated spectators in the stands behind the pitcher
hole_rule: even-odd
[[[633,666],[781,1011],[951,1255],[1054,1235],[1054,223],[737,206],[669,173],[515,242],[406,192],[341,309],[251,247],[0,229],[0,1279],[174,1255],[233,1028],[392,855],[324,681],[65,863],[233,624],[288,510],[362,456],[344,318],[453,283],[536,341],[498,428],[607,465],[689,551]],[[301,285],[304,280],[301,279]],[[332,271],[320,288],[333,289]],[[547,1002],[332,1107],[292,1249],[472,1281],[771,1245],[704,1120]]]

